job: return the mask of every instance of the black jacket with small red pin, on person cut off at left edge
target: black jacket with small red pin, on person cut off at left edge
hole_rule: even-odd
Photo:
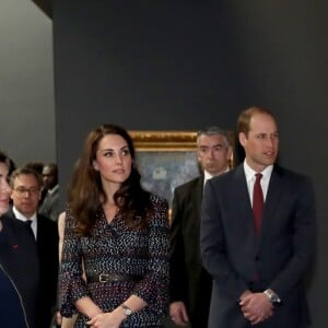
[[[35,242],[26,226],[9,215],[1,216],[0,263],[22,296],[30,327],[37,327],[39,261]],[[1,300],[5,302],[5,300]]]

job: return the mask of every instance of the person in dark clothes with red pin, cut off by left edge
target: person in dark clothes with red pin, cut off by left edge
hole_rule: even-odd
[[[35,327],[39,267],[34,238],[8,218],[13,162],[0,151],[0,327]]]

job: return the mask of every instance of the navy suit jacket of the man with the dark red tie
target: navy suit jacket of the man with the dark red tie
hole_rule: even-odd
[[[214,279],[209,327],[250,327],[237,300],[247,289],[268,288],[282,305],[259,327],[307,327],[302,280],[314,249],[315,202],[308,178],[274,165],[258,237],[244,166],[210,180],[201,220],[203,263]]]

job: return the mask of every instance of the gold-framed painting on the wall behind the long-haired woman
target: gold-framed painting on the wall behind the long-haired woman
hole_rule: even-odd
[[[196,131],[129,131],[142,186],[172,204],[175,187],[200,174]]]

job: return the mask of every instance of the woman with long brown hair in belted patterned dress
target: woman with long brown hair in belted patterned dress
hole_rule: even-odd
[[[86,138],[68,192],[60,268],[63,316],[75,327],[162,327],[168,306],[168,204],[141,187],[128,132]],[[82,260],[86,282],[82,278]]]

